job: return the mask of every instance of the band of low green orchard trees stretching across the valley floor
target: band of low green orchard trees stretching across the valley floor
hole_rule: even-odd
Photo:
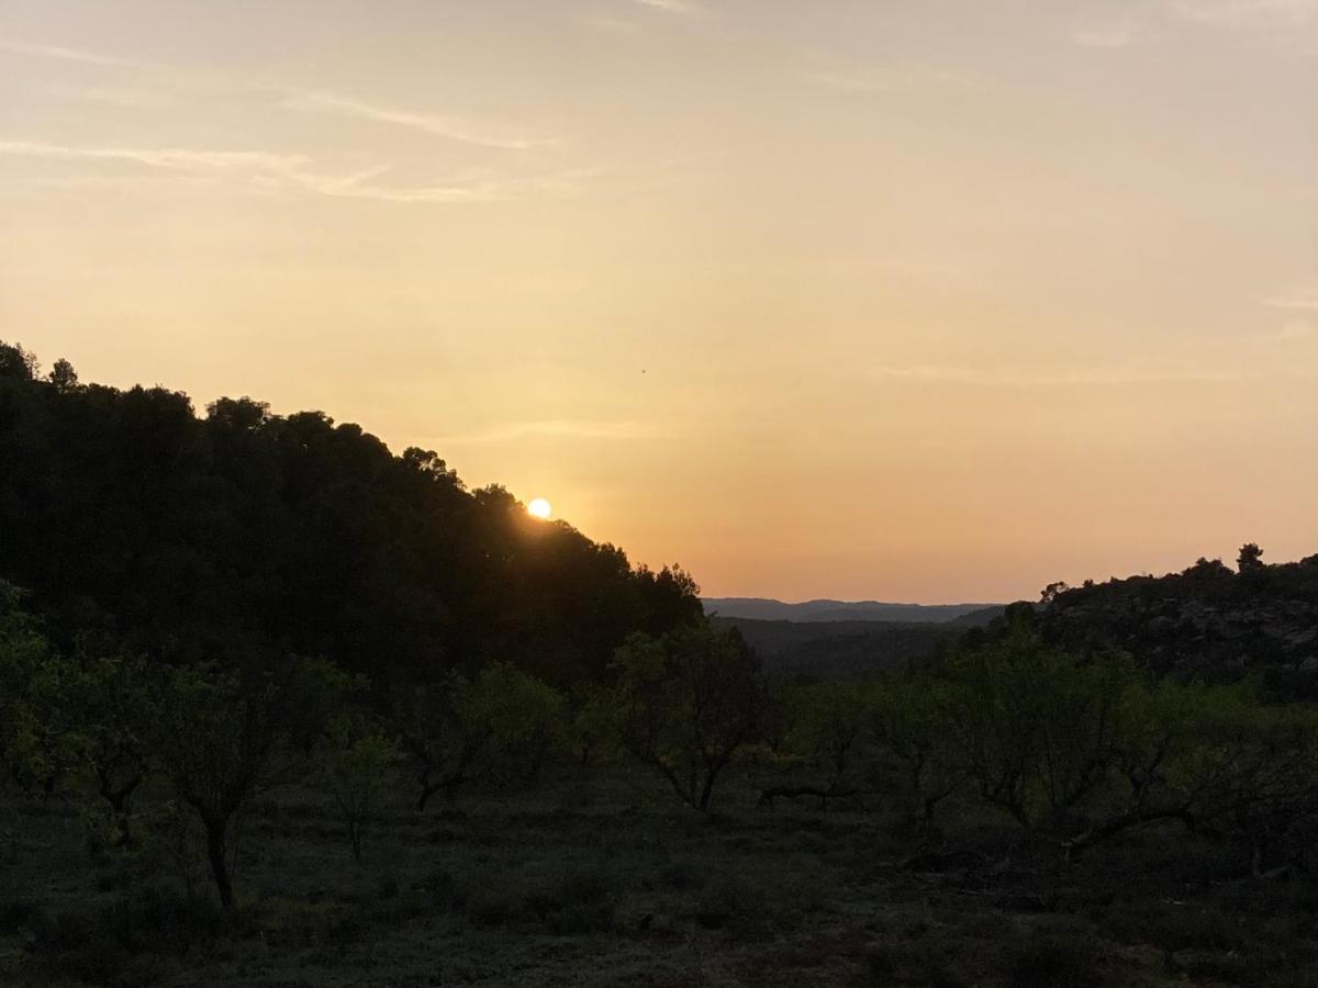
[[[705,814],[733,775],[768,805],[896,809],[919,847],[948,805],[1064,858],[1172,821],[1235,842],[1259,872],[1294,860],[1318,821],[1310,707],[1068,656],[1024,626],[862,682],[770,684],[735,632],[696,622],[633,635],[569,689],[509,663],[378,689],[319,657],[253,672],[57,649],[3,585],[0,725],[11,804],[70,800],[108,852],[195,846],[229,909],[235,823],[291,782],[323,790],[358,863],[387,805],[423,813],[547,765],[589,779],[633,763]]]

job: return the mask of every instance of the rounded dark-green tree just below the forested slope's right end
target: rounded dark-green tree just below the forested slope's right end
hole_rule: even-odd
[[[755,653],[735,631],[700,624],[658,639],[633,635],[613,668],[623,744],[677,798],[708,813],[720,772],[753,738],[764,707]]]

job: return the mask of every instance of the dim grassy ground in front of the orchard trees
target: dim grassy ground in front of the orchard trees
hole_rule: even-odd
[[[1239,848],[1151,831],[1065,864],[952,809],[916,858],[895,814],[779,802],[729,779],[724,815],[642,775],[399,805],[353,865],[315,793],[248,813],[225,922],[167,856],[88,850],[59,800],[0,830],[0,984],[1318,984],[1318,883],[1248,877]]]

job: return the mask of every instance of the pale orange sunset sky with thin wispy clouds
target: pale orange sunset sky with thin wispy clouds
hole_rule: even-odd
[[[1318,552],[1318,0],[0,0],[0,337],[706,594]]]

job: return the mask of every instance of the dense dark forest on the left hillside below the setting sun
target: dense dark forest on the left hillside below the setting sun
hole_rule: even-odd
[[[699,619],[652,572],[435,452],[393,454],[319,411],[42,375],[0,343],[0,577],[61,647],[169,661],[323,656],[377,681],[515,661],[606,674],[629,634]]]

